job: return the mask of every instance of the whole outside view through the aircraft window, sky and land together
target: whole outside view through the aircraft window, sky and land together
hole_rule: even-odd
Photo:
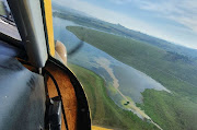
[[[197,129],[197,3],[53,0],[93,130]]]

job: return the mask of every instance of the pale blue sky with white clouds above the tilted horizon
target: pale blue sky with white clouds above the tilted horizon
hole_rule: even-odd
[[[197,49],[197,0],[55,0],[100,20]]]

